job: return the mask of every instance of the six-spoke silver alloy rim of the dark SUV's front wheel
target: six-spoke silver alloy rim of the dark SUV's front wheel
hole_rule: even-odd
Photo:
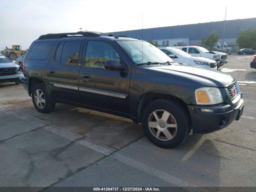
[[[169,141],[177,133],[175,118],[166,110],[154,110],[148,118],[150,132],[159,140]]]

